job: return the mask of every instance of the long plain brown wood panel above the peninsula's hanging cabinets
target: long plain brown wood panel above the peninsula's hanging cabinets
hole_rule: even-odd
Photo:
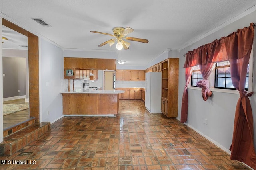
[[[64,57],[64,68],[83,70],[116,70],[116,59]]]

